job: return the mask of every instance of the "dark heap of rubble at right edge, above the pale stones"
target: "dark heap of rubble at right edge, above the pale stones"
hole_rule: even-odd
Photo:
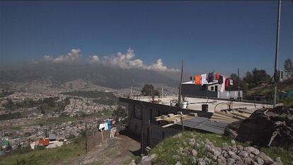
[[[255,110],[249,118],[227,125],[225,134],[263,146],[293,144],[293,108]]]

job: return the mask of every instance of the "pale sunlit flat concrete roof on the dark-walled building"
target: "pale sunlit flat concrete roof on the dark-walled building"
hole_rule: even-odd
[[[145,101],[145,102],[151,102],[151,97],[135,97],[133,100],[138,101]],[[161,103],[166,106],[171,106],[171,100],[178,100],[178,96],[166,96],[164,98],[155,98],[155,100],[161,100]],[[190,110],[202,110],[202,104],[208,105],[208,112],[214,112],[214,110],[220,111],[220,110],[227,110],[229,109],[229,103],[231,101],[224,101],[219,100],[215,98],[194,98],[194,97],[186,97],[185,101],[188,101],[188,107],[187,109]],[[255,110],[260,108],[272,108],[271,104],[268,103],[246,103],[246,102],[240,102],[240,101],[233,101],[231,103],[231,109],[238,109],[243,110],[248,113],[253,113]]]

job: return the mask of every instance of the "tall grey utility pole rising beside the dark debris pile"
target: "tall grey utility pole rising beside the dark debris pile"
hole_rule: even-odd
[[[279,35],[280,35],[280,19],[281,19],[281,0],[278,0],[277,7],[277,36],[276,36],[276,50],[275,50],[275,72],[274,72],[274,80],[275,80],[275,88],[274,88],[274,108],[277,104],[277,57],[279,56]]]

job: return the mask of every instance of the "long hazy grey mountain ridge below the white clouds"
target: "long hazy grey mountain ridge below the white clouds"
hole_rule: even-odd
[[[50,81],[57,86],[83,79],[98,86],[120,89],[139,84],[178,86],[178,72],[154,72],[143,69],[120,69],[93,64],[51,64],[46,62],[22,64],[0,69],[0,81]]]

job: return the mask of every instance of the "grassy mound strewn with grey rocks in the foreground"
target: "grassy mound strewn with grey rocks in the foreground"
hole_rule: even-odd
[[[280,156],[272,158],[256,147],[241,144],[235,140],[222,141],[215,135],[211,140],[202,140],[193,132],[176,135],[173,139],[163,141],[148,157],[142,158],[139,164],[196,164],[196,165],[282,165]],[[217,144],[216,144],[217,143]],[[166,147],[168,147],[166,149]],[[262,148],[263,149],[263,148]],[[268,152],[266,152],[268,153]],[[163,155],[162,155],[163,154]],[[289,154],[289,153],[288,153]],[[279,154],[281,155],[281,154]],[[288,159],[289,157],[289,159]],[[293,164],[293,157],[286,158],[286,164]],[[290,158],[291,157],[291,158]],[[290,161],[291,159],[291,161]],[[288,163],[289,161],[289,163]],[[131,165],[134,165],[132,162]]]

